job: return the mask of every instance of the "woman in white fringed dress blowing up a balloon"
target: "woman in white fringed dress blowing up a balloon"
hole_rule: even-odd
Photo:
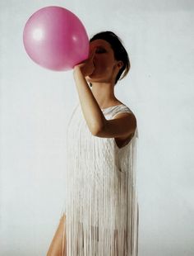
[[[80,102],[67,126],[66,209],[48,256],[136,256],[136,116],[114,95],[130,62],[111,31],[74,67]],[[89,87],[89,84],[90,87]]]

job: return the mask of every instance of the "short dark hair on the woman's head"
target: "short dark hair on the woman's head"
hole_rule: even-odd
[[[114,52],[114,58],[117,60],[122,60],[123,66],[119,70],[118,75],[115,79],[115,84],[116,84],[118,83],[118,80],[121,80],[127,75],[127,73],[129,72],[129,69],[131,68],[127,50],[125,50],[124,46],[122,45],[122,40],[117,35],[115,35],[112,31],[99,32],[95,34],[95,36],[92,36],[90,38],[90,42],[97,39],[102,39],[109,42]],[[90,83],[90,86],[92,86],[91,83]]]

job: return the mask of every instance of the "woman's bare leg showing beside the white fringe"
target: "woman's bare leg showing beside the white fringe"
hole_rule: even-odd
[[[55,235],[53,236],[52,243],[48,249],[47,256],[67,256],[66,255],[66,234],[64,234],[64,245],[63,245],[63,252],[62,252],[62,235],[63,235],[63,226],[65,228],[65,220],[66,216],[63,216],[60,219],[60,223],[58,225],[58,230],[56,231]]]

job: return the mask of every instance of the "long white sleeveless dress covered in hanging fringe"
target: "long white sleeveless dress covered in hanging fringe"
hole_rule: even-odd
[[[107,120],[132,112],[123,104],[101,111]],[[136,138],[137,128],[130,142],[119,148],[114,138],[92,135],[80,102],[74,108],[67,125],[65,256],[138,254]]]

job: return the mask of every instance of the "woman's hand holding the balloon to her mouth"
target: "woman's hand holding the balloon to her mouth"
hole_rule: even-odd
[[[79,69],[84,77],[90,76],[90,74],[93,73],[95,70],[95,64],[93,61],[94,57],[95,57],[95,49],[93,49],[90,52],[90,56],[88,59],[85,59],[80,64],[76,64],[76,66],[74,66],[73,73],[76,73],[76,70]]]

